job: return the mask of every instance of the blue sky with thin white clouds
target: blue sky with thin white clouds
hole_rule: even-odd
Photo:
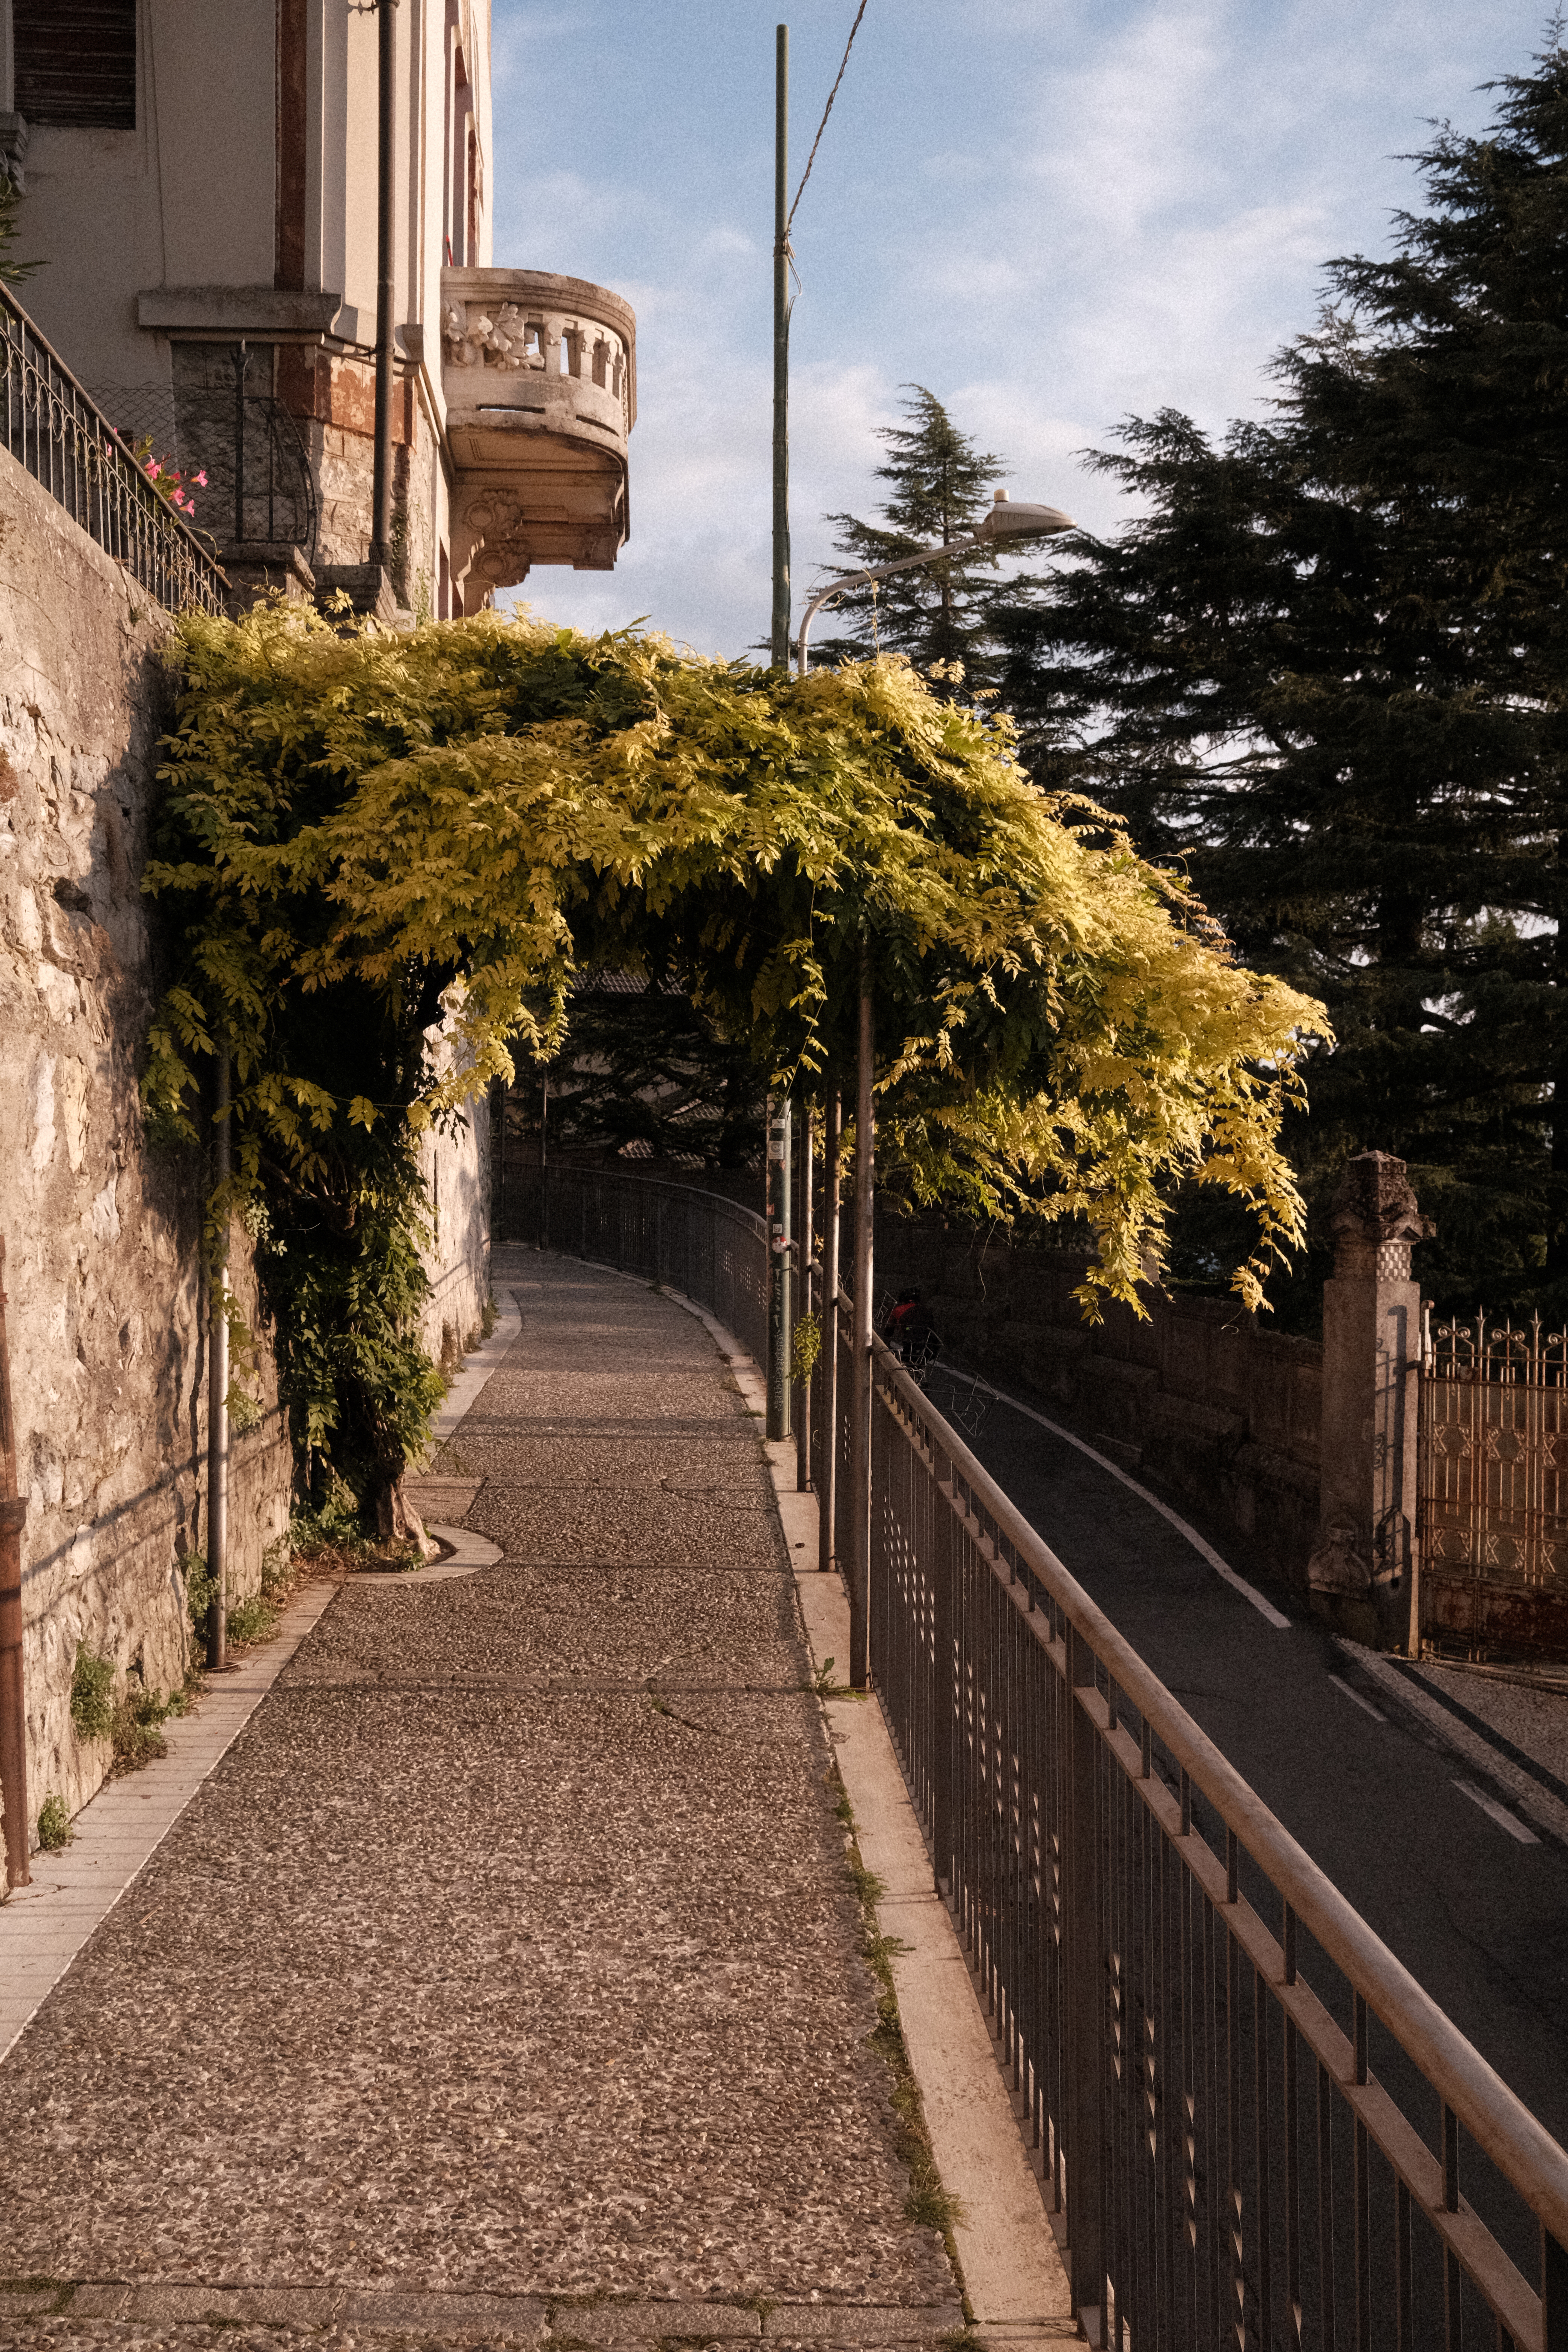
[[[632,539],[534,572],[548,619],[743,654],[769,616],[773,26],[792,181],[856,0],[496,0],[498,266],[637,310]],[[1079,463],[1128,412],[1258,414],[1321,266],[1385,252],[1427,122],[1528,71],[1514,0],[870,0],[795,221],[795,595],[872,513],[877,423],[929,386],[1013,496],[1112,529]]]

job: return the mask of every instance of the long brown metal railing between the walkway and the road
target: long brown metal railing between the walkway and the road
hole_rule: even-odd
[[[555,1247],[581,1242],[726,1322],[703,1287],[726,1237],[705,1244],[698,1225],[743,1221],[752,1319],[731,1329],[757,1352],[757,1218],[632,1176],[552,1183]],[[637,1207],[644,1190],[682,1195],[675,1228],[668,1202]],[[872,1679],[1091,2340],[1568,2352],[1568,2154],[882,1343],[870,1456]]]

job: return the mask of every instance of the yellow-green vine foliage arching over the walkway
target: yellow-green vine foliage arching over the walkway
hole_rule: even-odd
[[[1298,1240],[1276,1129],[1321,1009],[903,661],[783,680],[651,635],[343,633],[280,604],[188,619],[179,661],[148,875],[179,971],[146,1091],[188,1120],[223,1025],[244,1181],[310,1181],[346,1122],[418,1127],[555,1051],[583,964],[672,974],[820,1096],[853,1063],[865,953],[879,1155],[914,1197],[1079,1216],[1117,1296],[1159,1256],[1173,1174],[1258,1209],[1246,1298]],[[301,1016],[334,1004],[381,1009],[395,1070],[313,1075]],[[409,1068],[409,1021],[440,1009],[456,1054]]]

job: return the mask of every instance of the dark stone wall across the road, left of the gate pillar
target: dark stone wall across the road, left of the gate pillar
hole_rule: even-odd
[[[917,1284],[943,1338],[1124,1470],[1232,1526],[1305,1588],[1319,1522],[1324,1350],[1234,1298],[1145,1294],[1147,1322],[1084,1322],[1086,1256],[1011,1249],[940,1218],[877,1221],[877,1298]]]

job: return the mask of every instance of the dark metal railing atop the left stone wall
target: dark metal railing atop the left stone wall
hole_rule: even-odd
[[[221,614],[223,572],[7,287],[0,367],[0,447],[167,612]]]

